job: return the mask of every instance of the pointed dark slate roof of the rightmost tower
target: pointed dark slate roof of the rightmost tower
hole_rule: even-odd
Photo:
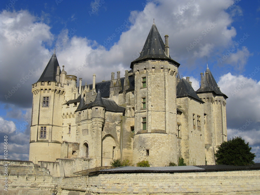
[[[226,96],[224,93],[220,91],[217,82],[215,81],[212,73],[210,72],[209,67],[207,67],[206,72],[202,77],[200,88],[196,91],[196,93],[203,92],[214,92],[217,95],[223,95],[225,98],[228,98],[228,96]]]

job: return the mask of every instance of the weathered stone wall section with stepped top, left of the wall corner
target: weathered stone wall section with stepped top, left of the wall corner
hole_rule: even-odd
[[[0,161],[0,166],[4,166]],[[8,161],[8,176],[0,169],[0,194],[51,195],[56,185],[60,186],[62,177],[53,177],[48,169],[31,161]],[[5,177],[8,177],[8,191],[4,190]]]

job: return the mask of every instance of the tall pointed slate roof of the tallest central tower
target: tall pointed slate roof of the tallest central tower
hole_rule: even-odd
[[[175,62],[173,59],[171,59],[171,57],[166,56],[164,47],[165,45],[162,41],[161,35],[157,30],[155,24],[153,23],[152,28],[145,41],[144,47],[140,52],[139,58],[137,58],[133,62],[146,58],[169,59]],[[133,68],[133,62],[131,62],[130,68]],[[180,65],[178,62],[175,62],[175,64],[177,64],[178,67]]]

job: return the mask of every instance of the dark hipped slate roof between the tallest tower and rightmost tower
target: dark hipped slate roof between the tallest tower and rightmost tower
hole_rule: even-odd
[[[204,103],[199,96],[196,94],[191,84],[186,79],[181,79],[176,86],[176,94],[178,97],[192,97],[193,99],[199,101],[200,103]]]

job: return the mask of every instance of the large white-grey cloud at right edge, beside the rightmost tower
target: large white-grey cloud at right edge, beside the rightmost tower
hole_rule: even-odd
[[[220,77],[218,86],[226,94],[226,112],[228,125],[243,125],[246,120],[260,122],[260,82],[242,75],[234,76],[231,73]],[[240,128],[238,126],[238,128]]]

